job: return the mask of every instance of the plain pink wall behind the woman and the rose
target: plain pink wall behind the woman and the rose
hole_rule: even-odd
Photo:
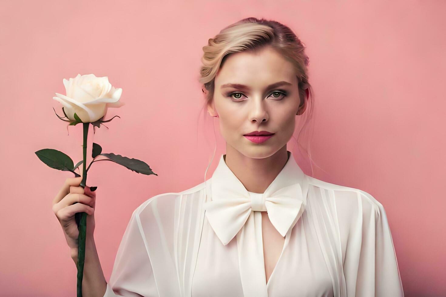
[[[311,152],[326,171],[314,166],[314,176],[384,205],[406,296],[444,295],[445,11],[444,1],[3,0],[1,295],[75,294],[76,267],[51,210],[73,174],[34,154],[54,148],[82,158],[82,126],[68,136],[52,108],[62,114],[52,99],[65,94],[62,79],[94,73],[122,88],[126,105],[107,114],[121,118],[96,129],[94,142],[158,174],[112,162],[88,172],[87,185],[98,186],[95,239],[108,281],[132,211],[204,181],[215,140],[200,113],[202,46],[248,16],[289,25],[307,46],[317,102]],[[225,149],[217,120],[215,129],[207,178]],[[288,149],[296,154],[294,140]]]

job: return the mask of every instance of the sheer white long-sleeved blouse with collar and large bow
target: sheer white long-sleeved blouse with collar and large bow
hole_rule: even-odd
[[[212,177],[132,213],[104,297],[404,296],[384,207],[305,175],[291,152],[264,193],[223,155]],[[261,211],[285,237],[266,283]]]

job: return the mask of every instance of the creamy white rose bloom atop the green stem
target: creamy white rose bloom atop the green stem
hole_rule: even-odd
[[[75,121],[74,113],[82,122],[95,122],[102,118],[108,107],[120,107],[122,89],[115,89],[108,77],[96,77],[94,74],[78,74],[70,80],[63,79],[66,95],[56,93],[54,100],[62,103],[66,116]]]

